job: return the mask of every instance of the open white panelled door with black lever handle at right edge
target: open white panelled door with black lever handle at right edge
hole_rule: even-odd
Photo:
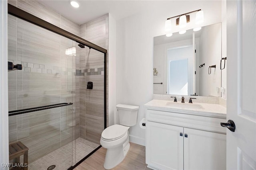
[[[256,1],[227,0],[227,169],[256,170]]]

